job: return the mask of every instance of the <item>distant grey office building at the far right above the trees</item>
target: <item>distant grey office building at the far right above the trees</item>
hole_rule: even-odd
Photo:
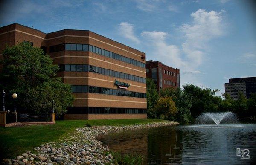
[[[230,94],[234,100],[239,98],[240,93],[247,99],[250,98],[256,93],[256,77],[230,78],[229,82],[225,83],[225,93]]]

